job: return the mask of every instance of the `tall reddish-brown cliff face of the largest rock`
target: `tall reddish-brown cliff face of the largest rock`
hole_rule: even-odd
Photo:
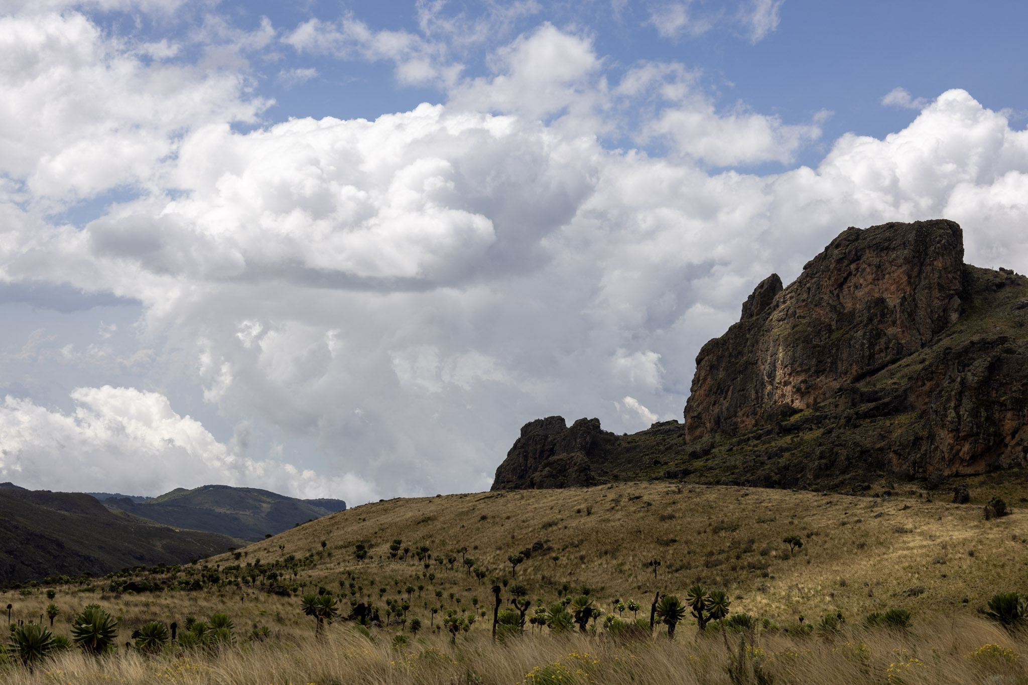
[[[696,358],[686,440],[732,435],[835,396],[960,315],[963,238],[945,220],[849,228],[788,288],[761,282]]]

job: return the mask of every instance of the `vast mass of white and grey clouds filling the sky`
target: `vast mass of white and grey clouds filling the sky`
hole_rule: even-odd
[[[65,42],[85,59],[8,32],[25,45],[12,53],[36,67],[0,82],[0,103],[24,98],[19,84],[34,74],[60,85],[67,69],[93,65],[81,73],[99,75],[114,104],[85,107],[81,126],[58,117],[54,140],[31,125],[16,140],[14,119],[0,128],[11,150],[0,162],[0,275],[132,298],[149,351],[114,361],[132,355],[90,342],[103,369],[127,380],[77,383],[63,412],[7,399],[3,463],[15,482],[64,487],[32,470],[38,462],[67,464],[61,478],[83,483],[107,473],[121,491],[190,473],[292,493],[326,484],[358,501],[485,489],[525,421],[599,416],[620,432],[678,416],[700,345],[737,320],[768,273],[787,281],[847,226],[945,216],[964,225],[969,262],[1028,268],[1028,134],[962,90],[884,139],[841,137],[816,167],[747,174],[711,168],[788,162],[819,120],[720,110],[681,64],[640,63],[613,79],[588,35],[545,23],[493,50],[487,76],[447,81],[443,104],[244,130],[231,121],[259,107],[238,74],[178,64],[167,92],[150,102],[142,88],[157,123],[130,125],[122,105],[173,67],[133,58],[74,13],[33,22],[27,35],[77,31]],[[346,31],[311,26],[289,39],[314,51],[390,38],[368,29],[351,47]],[[397,41],[400,62],[423,54]],[[123,68],[109,73],[114,63]],[[452,61],[431,62],[433,78],[445,81],[442,64]],[[88,92],[70,83],[71,100],[54,96],[53,107]],[[610,131],[655,145],[612,149]],[[109,167],[52,161],[107,145]],[[124,183],[139,196],[83,226],[33,208]],[[0,361],[41,374],[54,359],[93,369],[97,358],[40,330]],[[139,367],[152,375],[132,377]],[[215,440],[172,409],[171,391],[132,389],[167,377],[236,435]],[[265,427],[272,439],[260,437]],[[258,443],[272,456],[248,456]],[[303,446],[289,457],[296,473],[274,456],[284,443]],[[145,460],[156,464],[149,481],[131,472]]]

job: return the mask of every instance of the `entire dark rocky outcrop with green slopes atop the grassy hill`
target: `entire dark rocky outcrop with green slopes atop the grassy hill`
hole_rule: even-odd
[[[772,275],[697,357],[685,424],[529,422],[493,490],[636,479],[864,491],[1023,467],[1028,278],[962,263],[947,221],[850,228]],[[1009,473],[1011,478],[1019,478]]]

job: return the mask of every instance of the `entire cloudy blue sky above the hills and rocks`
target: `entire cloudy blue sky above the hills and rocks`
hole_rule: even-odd
[[[1028,4],[0,0],[0,481],[487,490],[839,232],[1028,270]]]

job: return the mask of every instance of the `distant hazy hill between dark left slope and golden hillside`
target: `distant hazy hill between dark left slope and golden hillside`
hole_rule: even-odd
[[[297,524],[346,508],[341,499],[296,499],[257,488],[206,485],[134,502],[128,498],[104,500],[110,508],[128,511],[169,526],[206,530],[244,540],[260,540]]]

